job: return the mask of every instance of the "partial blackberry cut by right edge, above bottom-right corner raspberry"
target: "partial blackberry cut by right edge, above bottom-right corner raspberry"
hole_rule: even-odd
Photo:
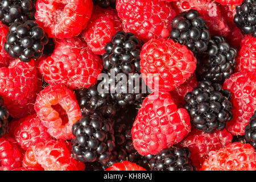
[[[256,111],[250,118],[250,123],[245,127],[245,139],[247,143],[250,143],[256,150]]]

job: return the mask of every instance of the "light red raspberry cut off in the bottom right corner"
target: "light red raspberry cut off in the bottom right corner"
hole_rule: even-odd
[[[256,152],[253,146],[241,142],[209,153],[200,171],[255,171]]]

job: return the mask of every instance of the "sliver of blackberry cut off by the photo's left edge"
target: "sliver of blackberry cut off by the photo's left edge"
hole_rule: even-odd
[[[0,96],[0,138],[6,134],[9,126],[9,110],[3,106],[3,97]]]

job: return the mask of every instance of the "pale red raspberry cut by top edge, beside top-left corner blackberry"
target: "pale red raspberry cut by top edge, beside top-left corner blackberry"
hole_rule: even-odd
[[[38,0],[35,19],[50,38],[72,38],[84,30],[92,10],[92,0]]]

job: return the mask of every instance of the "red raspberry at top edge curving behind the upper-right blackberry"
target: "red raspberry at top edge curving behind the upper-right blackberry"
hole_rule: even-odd
[[[220,8],[212,0],[178,0],[172,2],[172,7],[174,7],[177,14],[191,9],[199,11],[200,16],[207,22],[210,35],[212,36],[226,36],[230,31],[224,16],[221,14]]]

